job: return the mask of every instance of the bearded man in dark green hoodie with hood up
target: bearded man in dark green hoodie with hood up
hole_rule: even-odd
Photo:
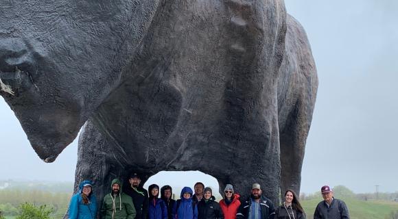
[[[121,192],[121,181],[113,179],[112,192],[104,197],[101,207],[101,219],[134,219],[135,209],[132,199]]]

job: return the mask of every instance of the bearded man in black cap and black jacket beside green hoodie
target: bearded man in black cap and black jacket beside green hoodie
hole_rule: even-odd
[[[135,218],[148,218],[148,191],[140,185],[141,177],[137,172],[133,172],[128,181],[130,182],[130,186],[124,192],[132,198],[135,210],[137,211]]]

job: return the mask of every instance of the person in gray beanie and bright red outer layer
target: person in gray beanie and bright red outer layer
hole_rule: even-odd
[[[226,184],[224,198],[220,201],[220,207],[225,219],[235,219],[237,209],[239,209],[239,194],[236,194],[231,184]]]

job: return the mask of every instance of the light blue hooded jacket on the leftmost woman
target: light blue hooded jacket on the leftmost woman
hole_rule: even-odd
[[[84,204],[82,198],[83,185],[93,183],[89,180],[82,181],[79,184],[79,190],[71,198],[71,203],[69,203],[69,219],[94,219],[97,216],[97,198],[93,194],[93,188],[91,188],[91,193],[87,198],[89,198],[89,203]]]

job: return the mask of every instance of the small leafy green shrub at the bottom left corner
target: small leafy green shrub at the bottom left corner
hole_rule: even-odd
[[[46,205],[34,206],[31,203],[23,203],[19,206],[19,214],[15,219],[50,219],[54,210]]]

